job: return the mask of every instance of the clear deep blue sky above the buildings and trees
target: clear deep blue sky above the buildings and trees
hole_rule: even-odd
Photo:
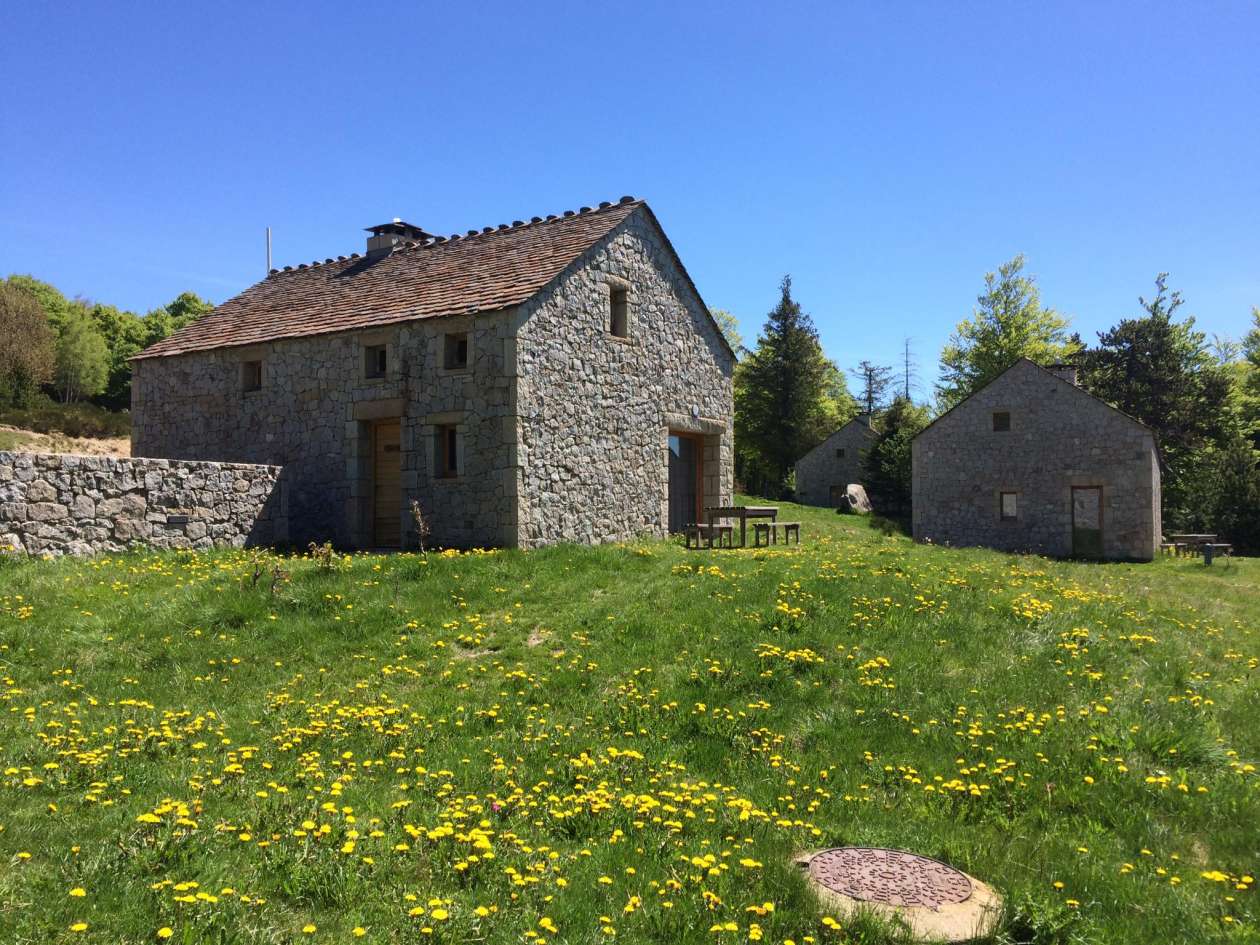
[[[1169,271],[1260,305],[1260,5],[8,4],[0,275],[222,301],[402,217],[645,197],[751,339],[785,272],[842,367],[925,382],[1028,257],[1087,339]]]

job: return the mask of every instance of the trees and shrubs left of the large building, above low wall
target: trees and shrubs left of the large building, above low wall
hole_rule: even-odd
[[[181,292],[137,315],[67,299],[33,276],[9,276],[0,281],[0,407],[55,397],[125,410],[131,404],[129,359],[213,307]]]

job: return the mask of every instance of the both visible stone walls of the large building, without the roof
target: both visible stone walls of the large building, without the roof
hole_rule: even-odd
[[[612,284],[630,291],[629,339],[609,333]],[[464,331],[469,368],[447,370],[445,339]],[[379,344],[387,375],[369,378]],[[242,389],[248,360],[258,391]],[[284,466],[301,546],[372,546],[372,425],[388,418],[406,546],[412,498],[435,546],[662,534],[669,430],[703,437],[706,500],[731,495],[733,359],[645,209],[519,309],[134,365],[132,454]],[[441,425],[459,436],[450,479],[435,475]]]

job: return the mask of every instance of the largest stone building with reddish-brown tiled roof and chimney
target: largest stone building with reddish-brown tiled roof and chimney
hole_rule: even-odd
[[[136,456],[284,466],[295,542],[660,536],[728,503],[735,355],[646,203],[289,267],[134,362]]]

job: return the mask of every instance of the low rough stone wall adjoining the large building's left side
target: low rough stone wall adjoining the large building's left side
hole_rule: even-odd
[[[0,451],[0,552],[285,542],[280,472],[237,462]]]

